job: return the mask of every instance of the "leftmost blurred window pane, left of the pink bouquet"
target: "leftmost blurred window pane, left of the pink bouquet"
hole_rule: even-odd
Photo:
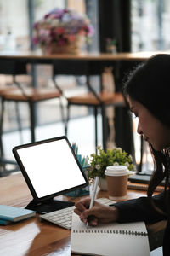
[[[0,0],[0,50],[26,50],[28,42],[27,1]]]

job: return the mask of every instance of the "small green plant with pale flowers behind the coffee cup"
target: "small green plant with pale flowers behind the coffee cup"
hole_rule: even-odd
[[[102,148],[98,147],[97,154],[91,154],[89,178],[92,180],[94,177],[104,177],[105,169],[107,166],[127,166],[129,171],[134,170],[133,158],[127,154],[122,148],[107,149],[105,152]]]

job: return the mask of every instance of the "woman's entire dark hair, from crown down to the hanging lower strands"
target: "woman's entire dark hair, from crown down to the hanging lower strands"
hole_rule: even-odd
[[[156,119],[170,130],[170,55],[154,55],[137,67],[127,78],[124,94],[140,102]],[[150,150],[156,164],[156,172],[152,176],[148,188],[151,200],[156,186],[165,178],[165,199],[167,212],[170,213],[169,176],[170,148],[156,151],[150,145]]]

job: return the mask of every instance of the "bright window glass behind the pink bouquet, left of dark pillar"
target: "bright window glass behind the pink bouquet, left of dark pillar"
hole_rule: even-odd
[[[16,6],[20,8],[15,8]],[[68,7],[76,9],[77,12],[82,14],[88,12],[88,17],[92,20],[96,31],[94,38],[92,38],[93,47],[88,47],[88,50],[95,49],[96,51],[98,49],[96,6],[96,0],[0,0],[0,50],[14,51],[17,49],[26,51],[30,49],[31,24],[40,20],[51,9]]]

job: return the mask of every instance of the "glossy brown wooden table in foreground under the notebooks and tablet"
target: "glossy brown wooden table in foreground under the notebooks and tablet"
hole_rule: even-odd
[[[146,195],[144,191],[128,190],[127,198]],[[98,192],[98,197],[108,197],[106,192]],[[60,200],[77,201],[79,198],[59,196]],[[26,207],[31,201],[31,193],[22,174],[0,178],[0,204]],[[8,226],[0,226],[0,255],[2,256],[42,256],[71,255],[71,230],[65,230],[36,218]]]

